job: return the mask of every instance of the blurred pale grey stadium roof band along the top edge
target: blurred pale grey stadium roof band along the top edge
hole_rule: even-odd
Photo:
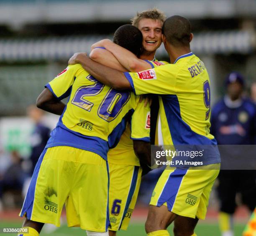
[[[232,18],[256,13],[255,0],[0,0],[0,24],[129,20],[136,11],[157,7],[167,16]]]

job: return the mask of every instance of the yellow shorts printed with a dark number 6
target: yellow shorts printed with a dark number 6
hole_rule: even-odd
[[[112,231],[126,230],[135,207],[141,185],[139,166],[109,164],[109,212]]]

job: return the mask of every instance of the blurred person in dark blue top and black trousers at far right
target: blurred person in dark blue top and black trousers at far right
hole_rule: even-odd
[[[254,144],[256,108],[243,97],[244,79],[239,73],[230,73],[225,81],[227,93],[212,109],[211,132],[219,145]],[[229,148],[230,149],[230,148]],[[239,148],[234,146],[222,160],[236,156]],[[222,153],[223,154],[223,153]],[[244,161],[246,153],[240,153]],[[242,202],[253,211],[256,205],[255,171],[221,170],[218,176],[220,198],[220,229],[223,236],[233,236],[233,214],[236,209],[236,193]]]

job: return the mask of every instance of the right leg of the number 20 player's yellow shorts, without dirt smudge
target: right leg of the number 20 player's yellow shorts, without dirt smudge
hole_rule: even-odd
[[[96,153],[80,150],[66,201],[68,226],[103,232],[109,225],[108,163]]]

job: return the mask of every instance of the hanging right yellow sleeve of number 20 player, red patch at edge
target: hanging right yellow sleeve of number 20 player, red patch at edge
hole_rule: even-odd
[[[131,139],[150,142],[150,107],[144,100],[138,103],[131,118]]]

